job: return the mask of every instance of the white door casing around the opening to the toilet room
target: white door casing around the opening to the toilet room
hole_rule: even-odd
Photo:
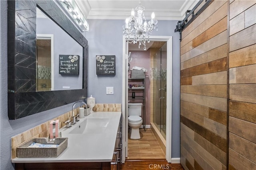
[[[131,39],[133,37],[130,37]],[[166,89],[166,160],[172,162],[172,36],[150,36],[150,41],[167,42],[167,89]],[[123,35],[123,54],[122,54],[122,113],[123,113],[123,155],[122,163],[128,156],[128,44]],[[127,113],[127,114],[126,114]],[[125,124],[124,124],[125,123]]]

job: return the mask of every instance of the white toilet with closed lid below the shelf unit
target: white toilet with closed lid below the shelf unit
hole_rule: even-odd
[[[141,109],[142,103],[128,103],[128,125],[132,128],[130,132],[131,139],[140,139]]]

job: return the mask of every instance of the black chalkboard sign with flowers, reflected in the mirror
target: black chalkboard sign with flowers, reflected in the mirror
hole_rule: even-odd
[[[79,74],[79,55],[59,55],[59,74]]]

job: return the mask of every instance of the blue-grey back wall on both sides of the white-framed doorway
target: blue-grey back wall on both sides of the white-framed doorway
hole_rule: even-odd
[[[122,25],[124,20],[89,20],[88,95],[96,103],[122,103]],[[174,33],[177,21],[158,21],[152,35],[173,36],[172,59],[172,158],[180,157],[180,35]],[[96,55],[116,55],[116,76],[96,75]],[[114,94],[106,94],[113,86]]]

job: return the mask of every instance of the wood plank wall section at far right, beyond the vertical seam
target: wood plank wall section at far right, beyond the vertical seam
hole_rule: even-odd
[[[256,0],[229,9],[228,167],[256,170]]]

